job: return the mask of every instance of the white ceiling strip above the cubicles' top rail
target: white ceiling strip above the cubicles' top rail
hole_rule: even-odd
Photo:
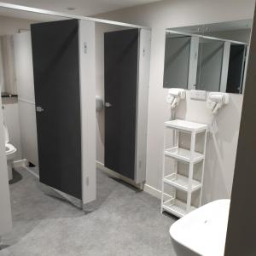
[[[84,16],[98,15],[117,9],[159,1],[160,0],[6,0],[8,3]],[[68,10],[67,8],[74,9]]]

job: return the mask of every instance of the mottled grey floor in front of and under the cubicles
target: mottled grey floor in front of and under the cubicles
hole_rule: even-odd
[[[168,235],[175,219],[160,214],[151,195],[97,171],[95,211],[82,212],[18,172],[10,185],[14,229],[2,237],[1,256],[175,255]]]

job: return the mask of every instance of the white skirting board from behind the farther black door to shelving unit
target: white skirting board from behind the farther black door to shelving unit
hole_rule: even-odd
[[[143,186],[140,186],[140,185],[134,183],[133,181],[131,181],[131,179],[124,177],[124,176],[120,175],[119,173],[113,172],[112,170],[108,169],[99,161],[96,161],[96,167],[99,168],[102,172],[107,173],[110,177],[119,178],[119,179],[125,181],[125,183],[130,183],[132,186],[135,186],[138,189],[142,189],[144,192],[148,193],[149,195],[152,195],[158,199],[161,198],[161,191],[159,189],[155,189],[154,187],[152,187],[148,184],[143,184]]]

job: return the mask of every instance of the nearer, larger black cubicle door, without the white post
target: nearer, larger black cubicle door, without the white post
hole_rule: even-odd
[[[40,182],[81,199],[79,20],[31,32]]]

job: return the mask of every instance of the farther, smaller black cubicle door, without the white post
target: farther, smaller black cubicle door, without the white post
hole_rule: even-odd
[[[135,178],[138,29],[106,32],[105,166]]]

